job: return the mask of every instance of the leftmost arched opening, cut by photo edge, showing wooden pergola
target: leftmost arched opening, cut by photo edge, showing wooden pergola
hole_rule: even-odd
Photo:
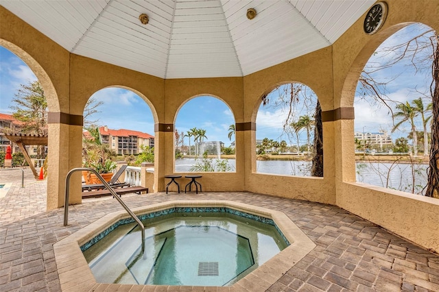
[[[8,166],[25,166],[25,177],[31,182],[41,176],[50,178],[52,175],[51,179],[55,179],[57,174],[48,173],[50,169],[47,167],[47,157],[56,155],[51,153],[47,141],[48,134],[57,134],[50,132],[47,123],[49,110],[59,108],[54,86],[32,56],[5,40],[0,40],[0,60],[0,152],[5,154],[1,155],[0,163],[7,165],[5,156],[9,147],[12,160]],[[5,135],[14,138],[11,141]],[[29,135],[40,137],[32,138]],[[8,175],[11,173],[8,172]],[[47,186],[47,180],[41,183]],[[29,205],[36,201],[32,195],[29,199]],[[47,197],[39,200],[43,204],[34,206],[36,212],[44,212],[47,201]]]

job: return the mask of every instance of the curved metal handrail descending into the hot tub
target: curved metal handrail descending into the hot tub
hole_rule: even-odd
[[[102,184],[104,184],[105,188],[108,189],[108,191],[110,191],[112,196],[117,199],[117,202],[119,202],[122,205],[122,207],[128,212],[128,215],[130,215],[132,217],[132,219],[134,219],[134,221],[137,222],[137,225],[139,225],[139,227],[141,228],[141,231],[142,231],[142,254],[143,254],[143,252],[145,252],[145,226],[143,226],[142,221],[140,221],[140,219],[137,218],[137,216],[132,212],[132,210],[130,210],[130,208],[128,208],[128,206],[126,206],[126,204],[123,203],[122,199],[120,197],[118,197],[115,190],[112,189],[112,187],[108,184],[108,182],[106,182],[102,178],[102,176],[99,173],[97,173],[97,171],[95,169],[90,169],[88,167],[77,167],[77,168],[71,169],[71,171],[69,171],[69,173],[67,173],[66,193],[64,196],[64,226],[67,226],[67,221],[69,220],[69,218],[68,218],[69,217],[69,185],[70,185],[70,177],[71,177],[72,173],[74,173],[75,171],[91,171],[91,172],[95,173],[97,178],[99,178],[99,180],[101,180]]]

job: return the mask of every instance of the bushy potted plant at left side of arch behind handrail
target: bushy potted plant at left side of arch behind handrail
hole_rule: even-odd
[[[90,127],[83,133],[82,139],[82,166],[95,169],[104,180],[111,180],[112,171],[116,168],[116,163],[112,160],[115,157],[114,151],[108,145],[102,143],[98,127]],[[100,184],[93,173],[83,171],[82,175],[86,184]]]

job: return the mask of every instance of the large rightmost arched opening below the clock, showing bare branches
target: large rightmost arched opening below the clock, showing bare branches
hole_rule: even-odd
[[[357,182],[423,194],[431,139],[434,29],[407,25],[361,71],[355,95]]]

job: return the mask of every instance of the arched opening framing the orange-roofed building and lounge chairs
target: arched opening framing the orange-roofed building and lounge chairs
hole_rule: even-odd
[[[141,186],[144,162],[154,173],[156,115],[150,106],[141,93],[131,88],[108,87],[91,95],[83,114],[82,166],[103,176],[108,173],[108,180],[125,186]],[[150,180],[152,186],[153,175]],[[93,191],[88,184],[96,183],[93,175],[83,173],[83,191]]]

